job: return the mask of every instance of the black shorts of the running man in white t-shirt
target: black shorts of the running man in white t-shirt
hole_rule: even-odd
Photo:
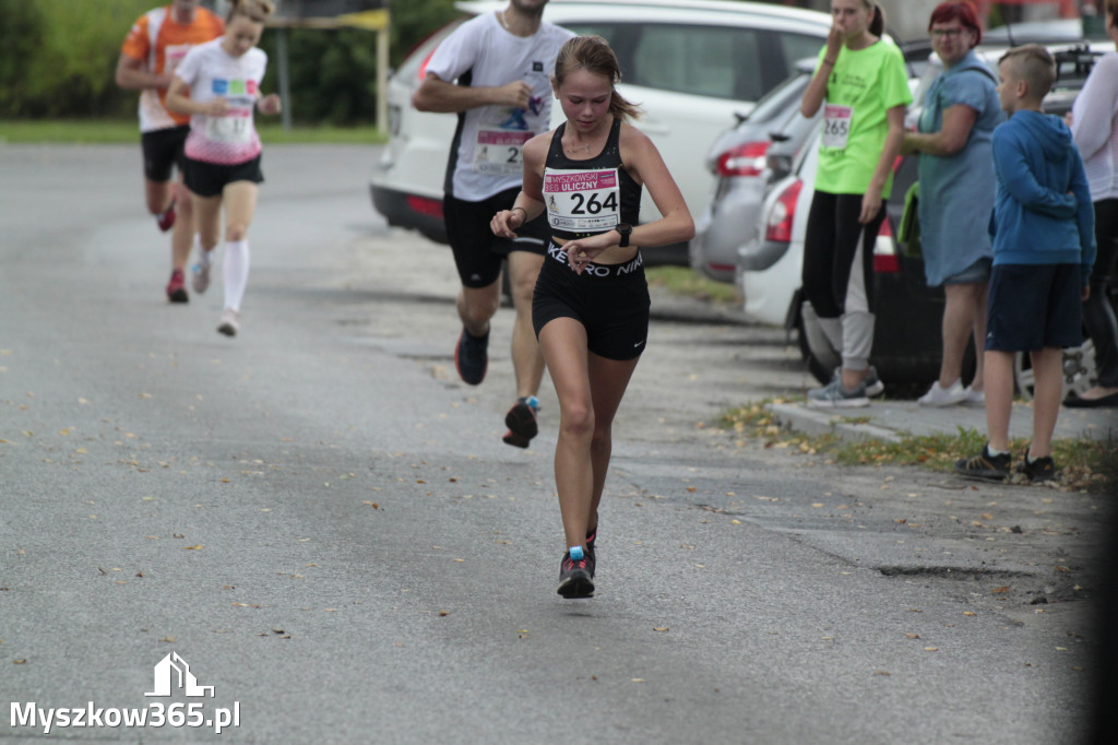
[[[464,201],[449,195],[443,198],[446,235],[454,252],[454,265],[466,287],[487,287],[501,275],[501,262],[513,251],[527,251],[543,256],[550,228],[540,215],[517,230],[515,241],[493,235],[490,223],[502,209],[512,207],[519,188],[506,189],[481,201]]]

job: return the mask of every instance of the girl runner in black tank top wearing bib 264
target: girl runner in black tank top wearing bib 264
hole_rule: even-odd
[[[524,145],[523,190],[492,221],[493,233],[504,237],[544,210],[551,225],[532,321],[559,398],[555,463],[567,548],[558,590],[563,597],[594,593],[610,426],[647,332],[637,247],[694,236],[660,152],[625,121],[636,109],[614,89],[619,79],[605,39],[578,37],[563,46],[552,87],[567,122]],[[636,225],[642,186],[663,217]]]

